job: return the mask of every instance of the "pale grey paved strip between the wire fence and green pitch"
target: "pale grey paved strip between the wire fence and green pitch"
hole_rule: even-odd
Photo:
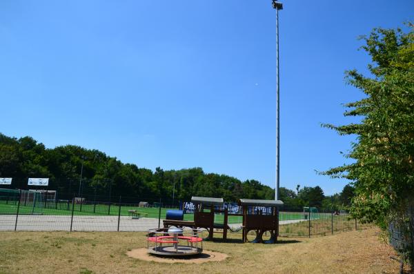
[[[70,231],[70,215],[19,215],[17,231]],[[279,224],[293,224],[303,220],[280,221]],[[16,215],[0,215],[0,231],[14,231]],[[162,220],[160,222],[163,226]],[[230,224],[239,228],[242,224]],[[158,219],[121,216],[119,231],[148,231],[158,227]],[[118,216],[73,216],[72,231],[118,231]]]

